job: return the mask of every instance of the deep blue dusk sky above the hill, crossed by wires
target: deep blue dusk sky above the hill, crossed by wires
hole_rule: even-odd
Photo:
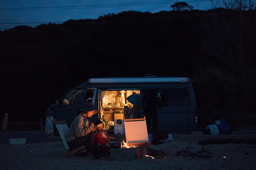
[[[1,0],[0,29],[18,25],[35,27],[48,23],[62,24],[70,19],[97,19],[99,16],[131,10],[151,13],[170,11],[173,10],[170,6],[175,2],[186,2],[198,10],[213,8],[210,0]]]

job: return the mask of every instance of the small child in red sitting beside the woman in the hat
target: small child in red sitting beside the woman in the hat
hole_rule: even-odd
[[[95,123],[96,134],[94,137],[94,147],[96,149],[105,149],[109,147],[111,136],[106,136],[104,132],[104,124],[102,121]]]

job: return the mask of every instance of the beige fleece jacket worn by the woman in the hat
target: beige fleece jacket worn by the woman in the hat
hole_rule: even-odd
[[[90,133],[91,131],[94,131],[95,128],[91,127],[89,125],[88,118],[85,118],[82,113],[80,113],[78,116],[76,116],[75,120],[71,123],[69,127],[69,131],[66,135],[66,141],[72,141],[77,137],[82,137]]]

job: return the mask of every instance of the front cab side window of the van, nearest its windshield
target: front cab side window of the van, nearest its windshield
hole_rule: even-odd
[[[85,95],[85,89],[76,89],[68,93],[61,101],[61,106],[68,106],[82,103]]]

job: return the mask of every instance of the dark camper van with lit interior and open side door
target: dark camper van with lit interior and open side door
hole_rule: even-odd
[[[143,118],[146,93],[154,91],[158,100],[158,128],[169,134],[190,134],[197,131],[196,98],[191,81],[187,77],[104,77],[90,78],[70,89],[48,108],[46,120],[65,119],[70,125],[77,110],[86,102],[95,104],[98,114],[91,117],[105,122],[111,129],[116,119]],[[152,120],[149,133],[152,133]],[[54,126],[53,126],[54,127]],[[57,135],[54,127],[54,135]]]

